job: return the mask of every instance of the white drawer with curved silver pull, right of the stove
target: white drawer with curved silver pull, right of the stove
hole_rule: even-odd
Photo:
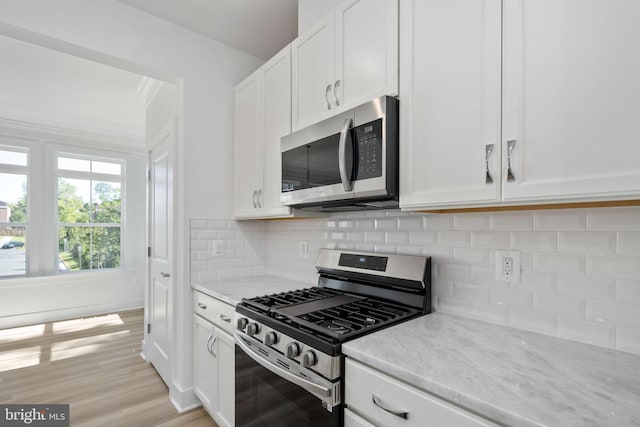
[[[496,426],[351,359],[345,361],[345,376],[347,407],[378,426]],[[397,412],[398,415],[390,411]],[[400,415],[402,413],[406,414],[406,418]]]

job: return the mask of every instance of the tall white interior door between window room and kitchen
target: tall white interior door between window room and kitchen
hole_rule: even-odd
[[[173,147],[175,127],[167,125],[149,152],[149,325],[148,358],[169,384],[169,337],[173,270]]]

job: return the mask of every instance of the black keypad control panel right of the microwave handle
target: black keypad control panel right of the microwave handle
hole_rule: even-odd
[[[355,179],[376,178],[382,176],[382,119],[354,128],[356,141],[357,168]]]

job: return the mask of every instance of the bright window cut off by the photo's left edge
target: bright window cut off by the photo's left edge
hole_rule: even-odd
[[[0,277],[27,271],[29,153],[0,146]]]

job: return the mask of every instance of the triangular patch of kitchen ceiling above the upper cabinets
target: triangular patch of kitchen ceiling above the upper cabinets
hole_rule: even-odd
[[[264,60],[298,33],[298,0],[119,1]]]

